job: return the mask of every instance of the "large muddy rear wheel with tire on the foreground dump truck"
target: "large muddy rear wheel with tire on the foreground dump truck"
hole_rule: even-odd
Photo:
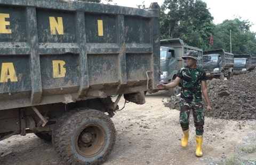
[[[66,112],[59,121],[58,127],[61,128],[54,131],[54,143],[68,164],[101,164],[106,161],[116,141],[116,130],[105,113],[76,109]]]

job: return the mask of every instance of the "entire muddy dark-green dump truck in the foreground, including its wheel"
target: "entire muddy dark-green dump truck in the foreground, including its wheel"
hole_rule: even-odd
[[[0,140],[35,133],[69,164],[104,162],[120,98],[155,90],[159,37],[157,3],[0,0]]]

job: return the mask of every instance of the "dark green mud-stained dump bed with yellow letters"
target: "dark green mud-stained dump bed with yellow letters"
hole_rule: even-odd
[[[158,83],[158,9],[0,0],[0,18],[0,110],[134,93]]]

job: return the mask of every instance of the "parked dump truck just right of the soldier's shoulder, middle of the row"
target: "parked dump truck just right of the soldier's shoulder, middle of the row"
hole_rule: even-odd
[[[208,79],[229,79],[234,72],[234,54],[223,49],[203,52],[203,69]]]

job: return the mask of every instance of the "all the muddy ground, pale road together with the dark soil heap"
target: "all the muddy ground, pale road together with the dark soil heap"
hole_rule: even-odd
[[[104,164],[255,165],[255,79],[254,72],[236,76],[232,81],[207,81],[213,109],[205,112],[201,158],[195,156],[192,116],[189,144],[185,149],[180,146],[178,98],[170,98],[166,91],[161,91],[147,94],[143,105],[126,103],[112,118],[117,131],[116,144]],[[119,107],[123,105],[122,99]],[[51,143],[27,134],[0,141],[0,164],[66,163],[55,153]]]

